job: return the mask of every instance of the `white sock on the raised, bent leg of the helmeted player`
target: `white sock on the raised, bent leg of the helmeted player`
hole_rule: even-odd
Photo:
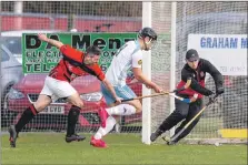
[[[120,104],[106,109],[109,115],[131,115],[136,113],[136,107],[129,104]]]

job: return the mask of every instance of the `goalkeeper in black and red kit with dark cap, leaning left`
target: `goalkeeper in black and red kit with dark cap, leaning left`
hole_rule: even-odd
[[[169,131],[171,127],[183,121],[179,127],[176,128],[175,135],[202,109],[202,96],[209,96],[214,100],[214,92],[205,87],[206,72],[208,72],[215,81],[216,94],[224,93],[224,79],[221,73],[207,60],[200,59],[198,52],[190,49],[186,53],[186,64],[181,70],[181,81],[177,85],[177,89],[182,87],[187,79],[191,78],[191,84],[188,89],[177,92],[178,96],[192,97],[194,94],[198,94],[195,102],[188,104],[179,100],[175,100],[176,110],[161,123],[158,130],[151,134],[150,141],[155,142],[162,133]],[[168,142],[168,145],[176,144],[178,141],[187,136],[190,131],[199,122],[198,116],[175,141]]]

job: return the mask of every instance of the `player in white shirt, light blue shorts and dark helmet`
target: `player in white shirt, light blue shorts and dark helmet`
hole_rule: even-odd
[[[115,54],[115,58],[106,73],[106,78],[113,85],[116,94],[119,97],[123,100],[136,97],[133,91],[126,85],[127,73],[130,69],[132,70],[135,78],[147,87],[153,89],[155,92],[158,93],[162,91],[156,83],[147,79],[141,70],[141,51],[149,51],[156,40],[157,33],[151,28],[143,28],[139,31],[138,40],[127,42]],[[109,109],[102,109],[100,111],[101,127],[90,141],[90,144],[96,147],[107,147],[107,144],[101,138],[108,134],[117,123],[112,115],[131,115],[139,113],[142,110],[142,105],[139,100],[132,100],[116,105],[116,100],[103,85],[101,85],[101,92]]]

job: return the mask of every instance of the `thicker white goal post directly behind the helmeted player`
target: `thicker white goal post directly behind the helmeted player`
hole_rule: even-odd
[[[142,27],[151,27],[151,2],[142,2]],[[151,79],[151,52],[143,51],[142,72]],[[151,90],[142,85],[142,95],[151,94]],[[151,134],[151,99],[142,100],[142,143],[150,144]]]

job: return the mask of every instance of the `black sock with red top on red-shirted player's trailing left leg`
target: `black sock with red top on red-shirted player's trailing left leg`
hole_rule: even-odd
[[[16,132],[19,133],[24,127],[24,125],[28,124],[38,113],[39,112],[36,110],[33,104],[27,107],[18,123],[14,125]]]

